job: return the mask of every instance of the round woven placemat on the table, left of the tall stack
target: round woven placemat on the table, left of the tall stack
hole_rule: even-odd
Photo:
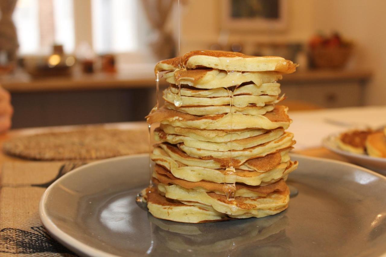
[[[11,139],[3,152],[30,160],[93,160],[149,152],[146,129],[85,128]]]

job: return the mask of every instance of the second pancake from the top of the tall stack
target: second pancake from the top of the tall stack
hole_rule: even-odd
[[[177,84],[175,75],[180,85],[200,89],[228,88],[248,82],[262,86],[265,83],[275,83],[283,77],[276,71],[227,72],[219,69],[179,69],[177,72],[165,73],[163,77],[167,82]]]

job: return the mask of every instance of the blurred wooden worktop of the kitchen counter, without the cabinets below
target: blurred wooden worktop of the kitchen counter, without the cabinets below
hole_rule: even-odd
[[[369,70],[308,70],[288,74],[281,84],[293,83],[332,83],[341,81],[366,82],[371,78]],[[118,73],[74,73],[72,76],[51,78],[31,78],[24,71],[0,76],[3,88],[13,92],[63,91],[63,90],[102,90],[112,88],[154,88],[152,66],[148,69],[131,69]],[[161,85],[166,82],[161,79]]]

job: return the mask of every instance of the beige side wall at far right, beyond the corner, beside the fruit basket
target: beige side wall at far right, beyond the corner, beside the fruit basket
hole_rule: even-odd
[[[341,31],[356,43],[353,66],[374,72],[366,91],[367,105],[386,104],[386,1],[314,1],[314,26]]]

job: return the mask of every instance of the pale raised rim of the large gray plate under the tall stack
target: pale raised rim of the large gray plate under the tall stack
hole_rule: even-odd
[[[56,226],[56,224],[51,220],[51,218],[49,218],[49,215],[47,214],[46,209],[45,209],[45,202],[46,202],[47,198],[49,197],[49,194],[50,194],[52,188],[54,186],[56,186],[56,184],[60,183],[60,181],[64,178],[66,178],[67,176],[72,176],[72,174],[79,172],[80,170],[84,169],[85,167],[92,167],[95,165],[99,165],[100,163],[114,162],[114,161],[121,160],[121,159],[134,159],[134,158],[144,157],[144,156],[149,156],[149,154],[134,154],[134,155],[129,155],[129,156],[119,156],[119,157],[112,157],[112,158],[108,158],[108,159],[103,159],[103,160],[91,162],[91,163],[85,164],[83,166],[77,167],[73,171],[68,172],[67,174],[64,174],[59,179],[57,179],[54,183],[52,183],[46,189],[46,191],[44,191],[44,193],[41,197],[41,200],[39,202],[39,218],[41,219],[46,230],[50,233],[50,235],[52,237],[54,237],[56,240],[58,240],[59,243],[63,244],[65,247],[67,247],[68,249],[70,249],[71,251],[73,251],[77,254],[80,254],[83,256],[101,256],[101,257],[102,256],[103,257],[105,257],[105,256],[108,256],[108,257],[119,256],[119,255],[114,255],[114,254],[104,252],[103,250],[99,250],[99,249],[91,247],[85,243],[82,243],[79,240],[77,240],[76,238],[72,237],[71,235],[68,235],[66,232],[61,230],[58,226]],[[383,176],[375,171],[371,171],[370,169],[367,169],[367,168],[364,168],[364,167],[361,167],[361,166],[358,166],[355,164],[351,164],[349,162],[337,161],[337,160],[333,160],[333,159],[313,157],[313,156],[306,156],[303,154],[296,154],[296,153],[290,153],[290,156],[295,157],[295,158],[300,157],[300,158],[310,159],[310,160],[314,160],[314,161],[333,162],[333,163],[336,163],[339,165],[350,166],[352,168],[359,169],[363,172],[370,173],[370,174],[380,178],[381,180],[384,181],[384,183],[386,183],[386,176]],[[386,252],[381,254],[380,256],[386,257]]]

